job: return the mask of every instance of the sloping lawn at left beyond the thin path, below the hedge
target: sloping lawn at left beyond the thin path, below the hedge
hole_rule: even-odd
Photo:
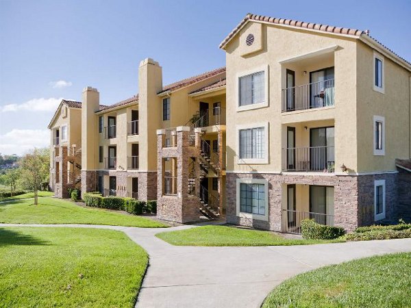
[[[110,224],[129,227],[168,227],[141,216],[127,215],[105,209],[80,207],[58,198],[0,203],[0,222],[16,224]]]

